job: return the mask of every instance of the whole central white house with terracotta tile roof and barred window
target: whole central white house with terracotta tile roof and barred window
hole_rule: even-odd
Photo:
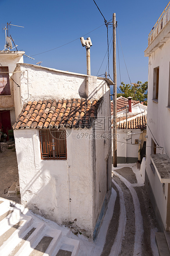
[[[13,78],[21,203],[94,238],[111,193],[112,82],[31,64]]]

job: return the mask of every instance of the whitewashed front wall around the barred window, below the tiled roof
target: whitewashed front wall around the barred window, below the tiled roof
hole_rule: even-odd
[[[71,222],[92,236],[91,140],[79,138],[81,130],[67,131],[68,159],[41,160],[38,130],[14,130],[21,202],[35,213],[68,225],[70,197]]]

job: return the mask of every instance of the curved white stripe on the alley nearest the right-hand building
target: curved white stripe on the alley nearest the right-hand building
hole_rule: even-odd
[[[113,172],[116,176],[118,176],[121,181],[128,187],[132,198],[133,198],[133,204],[135,208],[135,244],[134,244],[134,251],[133,256],[141,256],[142,255],[142,235],[143,235],[143,220],[142,220],[142,214],[140,211],[140,202],[137,197],[137,193],[135,189],[132,187],[131,183],[128,182],[123,176],[121,176],[119,173],[116,173],[116,171]]]

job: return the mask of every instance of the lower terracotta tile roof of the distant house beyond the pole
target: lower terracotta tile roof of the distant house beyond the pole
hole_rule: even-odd
[[[120,121],[119,118],[117,120],[117,129],[126,129],[126,118]],[[130,118],[127,119],[128,129],[146,129],[147,128],[147,115],[138,115],[135,119]]]

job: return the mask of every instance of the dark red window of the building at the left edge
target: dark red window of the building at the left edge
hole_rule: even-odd
[[[3,73],[4,72],[4,73]],[[0,67],[0,95],[11,95],[7,66]]]

